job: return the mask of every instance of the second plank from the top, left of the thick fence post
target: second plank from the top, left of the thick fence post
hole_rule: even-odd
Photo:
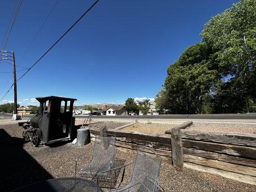
[[[161,144],[161,143],[157,143],[157,142],[143,141],[143,140],[138,140],[138,139],[130,139],[130,138],[125,138],[125,137],[116,137],[116,140],[126,142],[126,143],[134,143],[134,144],[148,146],[151,148],[164,149],[164,150],[171,151],[171,144]]]

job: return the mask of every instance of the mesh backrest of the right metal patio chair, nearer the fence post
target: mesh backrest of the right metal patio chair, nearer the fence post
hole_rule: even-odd
[[[134,162],[130,186],[140,186],[137,191],[155,192],[161,167],[161,158],[153,151],[152,156],[155,158],[152,158],[140,151],[140,149],[141,148],[138,149]],[[138,185],[138,183],[141,185]]]

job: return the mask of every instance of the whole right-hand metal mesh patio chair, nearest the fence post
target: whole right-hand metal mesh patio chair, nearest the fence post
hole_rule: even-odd
[[[134,164],[132,177],[130,183],[126,187],[119,189],[110,190],[110,192],[159,192],[160,186],[158,182],[161,157],[158,156],[154,151],[150,150],[154,158],[143,153],[142,147],[138,148],[137,156],[135,161],[119,168],[111,168],[107,171],[110,172],[120,168],[126,168],[127,166]],[[147,149],[148,150],[148,149]]]

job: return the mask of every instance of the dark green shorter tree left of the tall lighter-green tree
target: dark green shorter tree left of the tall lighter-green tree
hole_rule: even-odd
[[[212,53],[205,43],[186,48],[167,69],[164,87],[156,97],[157,108],[174,114],[202,113],[204,96],[219,77]]]

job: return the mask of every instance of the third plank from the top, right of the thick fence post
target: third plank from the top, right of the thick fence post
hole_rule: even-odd
[[[186,147],[183,147],[183,154],[192,155],[192,156],[201,156],[201,157],[206,157],[208,159],[219,160],[227,163],[233,163],[237,165],[244,165],[244,166],[250,166],[250,167],[256,168],[256,159],[224,155],[224,154],[203,151],[195,148],[186,148]]]

